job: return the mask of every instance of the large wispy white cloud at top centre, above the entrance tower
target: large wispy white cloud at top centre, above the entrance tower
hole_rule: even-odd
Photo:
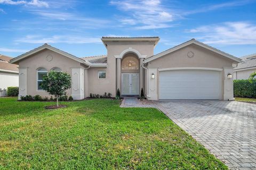
[[[159,0],[125,0],[111,1],[119,10],[125,11],[127,16],[120,17],[122,24],[135,25],[135,29],[169,28],[176,14],[165,8]]]

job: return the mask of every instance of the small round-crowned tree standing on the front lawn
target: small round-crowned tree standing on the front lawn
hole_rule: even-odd
[[[60,71],[51,71],[43,77],[42,88],[57,98],[59,107],[59,97],[66,95],[66,90],[71,88],[71,76]]]

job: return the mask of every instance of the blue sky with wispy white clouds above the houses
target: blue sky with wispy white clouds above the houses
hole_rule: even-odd
[[[106,54],[102,36],[159,36],[155,54],[191,38],[235,56],[256,53],[256,0],[0,0],[0,54],[44,43],[78,57]]]

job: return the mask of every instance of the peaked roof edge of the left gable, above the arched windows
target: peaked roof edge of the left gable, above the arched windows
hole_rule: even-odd
[[[55,53],[61,54],[61,55],[63,55],[63,56],[66,56],[66,57],[68,57],[68,58],[70,58],[70,59],[72,59],[72,60],[75,60],[75,61],[79,62],[79,63],[82,63],[82,64],[85,64],[85,65],[91,66],[91,64],[90,64],[89,62],[82,60],[82,58],[78,58],[78,57],[76,57],[76,56],[74,56],[74,55],[71,55],[71,54],[69,54],[69,53],[66,53],[66,52],[64,52],[64,51],[62,51],[62,50],[60,50],[60,49],[58,49],[58,48],[52,47],[52,46],[50,46],[50,45],[48,45],[48,44],[44,44],[44,45],[42,45],[42,46],[40,46],[40,47],[37,47],[37,48],[35,48],[35,49],[33,49],[33,50],[30,50],[29,52],[27,52],[27,53],[25,53],[25,54],[22,54],[22,55],[20,55],[20,56],[18,56],[18,57],[15,57],[15,58],[13,58],[12,60],[10,60],[10,63],[18,63],[20,60],[23,60],[24,58],[27,58],[27,57],[29,57],[29,56],[31,56],[31,55],[33,55],[33,54],[36,54],[36,53],[38,53],[38,52],[41,52],[41,51],[44,50],[44,49],[52,50],[52,51],[55,52]]]

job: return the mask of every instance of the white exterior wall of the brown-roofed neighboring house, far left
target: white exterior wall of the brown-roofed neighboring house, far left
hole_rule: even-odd
[[[7,87],[19,87],[19,74],[0,71],[0,97],[6,96]]]

